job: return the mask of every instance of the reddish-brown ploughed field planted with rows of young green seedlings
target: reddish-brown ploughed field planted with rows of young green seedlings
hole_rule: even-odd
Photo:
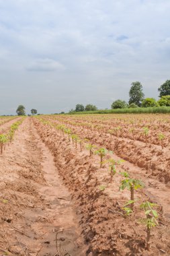
[[[170,255],[170,115],[0,117],[0,255]]]

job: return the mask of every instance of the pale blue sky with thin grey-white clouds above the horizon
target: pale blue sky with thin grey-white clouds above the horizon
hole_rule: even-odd
[[[158,98],[170,79],[169,0],[0,0],[0,115]]]

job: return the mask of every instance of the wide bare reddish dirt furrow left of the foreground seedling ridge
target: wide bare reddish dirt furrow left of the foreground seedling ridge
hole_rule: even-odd
[[[30,119],[0,166],[0,255],[85,255],[74,202]]]

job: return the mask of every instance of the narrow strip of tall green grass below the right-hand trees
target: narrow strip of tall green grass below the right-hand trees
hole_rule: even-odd
[[[170,113],[170,106],[156,106],[150,108],[116,108],[116,109],[105,109],[105,110],[95,110],[95,111],[83,111],[83,112],[73,112],[67,113],[69,115],[82,115],[82,114],[152,114],[160,113],[167,114]]]

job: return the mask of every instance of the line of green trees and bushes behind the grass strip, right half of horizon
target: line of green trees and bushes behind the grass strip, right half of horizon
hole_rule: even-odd
[[[115,100],[111,108],[138,108],[138,107],[153,107],[153,106],[170,106],[170,80],[167,80],[159,88],[159,100],[155,98],[144,98],[142,84],[140,82],[132,82],[130,91],[129,91],[129,101],[128,103],[125,100]],[[83,111],[93,111],[97,110],[97,106],[93,104],[77,104],[75,110],[71,109],[69,113],[73,112],[83,112]]]

